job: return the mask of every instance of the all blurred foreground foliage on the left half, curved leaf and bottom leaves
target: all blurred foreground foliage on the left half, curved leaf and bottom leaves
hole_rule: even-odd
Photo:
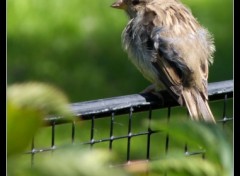
[[[30,168],[21,155],[47,115],[72,120],[67,97],[59,89],[44,83],[30,82],[8,87],[7,92],[7,156],[8,175],[84,175],[123,176],[123,170],[110,168],[113,155],[103,150],[62,148],[54,155],[45,155],[37,166]]]

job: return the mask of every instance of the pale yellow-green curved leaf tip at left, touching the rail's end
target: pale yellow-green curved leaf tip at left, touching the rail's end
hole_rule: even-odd
[[[7,98],[20,108],[32,108],[44,115],[72,117],[67,96],[58,88],[38,82],[14,84],[7,89]]]

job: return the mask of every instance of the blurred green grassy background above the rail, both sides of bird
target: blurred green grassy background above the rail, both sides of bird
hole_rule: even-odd
[[[184,0],[215,37],[209,82],[233,78],[233,2]],[[8,0],[8,84],[62,89],[71,102],[138,93],[150,83],[121,47],[127,16],[113,0]]]

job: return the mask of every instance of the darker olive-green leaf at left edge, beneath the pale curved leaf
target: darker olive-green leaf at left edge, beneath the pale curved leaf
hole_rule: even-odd
[[[7,155],[24,151],[42,124],[43,114],[35,109],[7,103]]]

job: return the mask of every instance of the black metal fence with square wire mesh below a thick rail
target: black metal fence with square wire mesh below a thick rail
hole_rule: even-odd
[[[210,83],[208,94],[210,106],[217,103],[215,110],[217,112],[217,123],[222,125],[223,128],[227,124],[232,128],[233,117],[229,109],[231,111],[233,103],[233,81]],[[179,107],[166,91],[161,91],[161,95],[162,99],[148,93],[73,103],[70,107],[76,118],[69,122],[64,120],[63,117],[47,117],[45,119],[46,127],[44,128],[49,130],[50,143],[46,146],[37,146],[36,136],[32,141],[30,151],[26,154],[31,155],[31,164],[33,165],[36,155],[42,152],[52,152],[66,145],[89,145],[90,148],[99,145],[100,147],[107,147],[109,150],[115,150],[119,147],[118,142],[124,141],[124,144],[121,144],[121,146],[125,146],[122,156],[123,161],[154,159],[161,155],[160,148],[162,148],[161,152],[167,153],[169,151],[170,138],[168,135],[161,136],[161,139],[157,136],[160,132],[152,129],[152,119],[165,118],[166,121],[169,121],[174,116],[175,108],[178,108],[175,116],[179,116],[179,111],[187,114],[186,109]],[[101,121],[103,119],[104,121]],[[143,120],[147,121],[147,125],[140,128]],[[67,126],[64,129],[64,134],[68,134],[66,138],[69,140],[58,144],[56,139],[57,128],[63,126]],[[101,135],[103,131],[104,134]],[[134,146],[135,139],[142,140],[145,145],[141,146],[141,154],[132,154],[134,148],[139,150],[139,146]],[[156,143],[158,143],[157,147],[154,146]],[[187,145],[183,146],[183,151],[188,155],[204,157],[203,151],[192,151]]]

